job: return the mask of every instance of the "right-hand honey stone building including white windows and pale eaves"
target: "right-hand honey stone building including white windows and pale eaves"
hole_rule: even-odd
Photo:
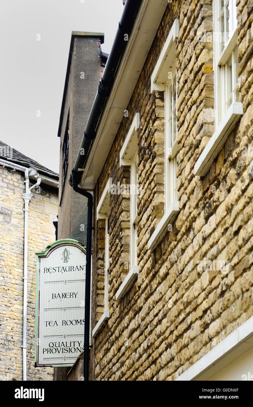
[[[104,74],[73,171],[93,192],[90,379],[246,380],[253,2],[127,0]]]

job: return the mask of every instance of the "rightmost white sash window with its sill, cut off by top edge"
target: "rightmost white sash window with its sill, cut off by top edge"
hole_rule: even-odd
[[[236,123],[243,114],[242,103],[236,100],[238,84],[235,84],[235,48],[237,41],[237,19],[236,19],[236,0],[226,0],[224,4],[229,4],[230,14],[233,16],[229,20],[229,35],[224,48],[222,49],[220,35],[220,0],[213,0],[214,15],[214,125],[215,131],[199,156],[195,166],[194,174],[203,177],[206,175],[225,144],[229,133],[233,130]],[[233,7],[232,7],[233,5]],[[227,99],[227,62],[232,55],[232,99],[229,106],[226,105]]]

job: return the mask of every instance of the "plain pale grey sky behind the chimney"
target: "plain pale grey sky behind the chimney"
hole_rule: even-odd
[[[1,0],[0,8],[0,140],[58,172],[71,31],[104,32],[109,53],[122,0]]]

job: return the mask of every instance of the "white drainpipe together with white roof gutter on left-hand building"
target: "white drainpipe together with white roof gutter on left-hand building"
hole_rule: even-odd
[[[28,263],[28,206],[29,202],[32,199],[32,193],[31,190],[33,188],[36,188],[37,186],[40,185],[41,180],[45,184],[58,187],[59,182],[51,179],[49,177],[44,177],[43,175],[39,175],[37,171],[35,171],[33,168],[26,168],[24,166],[21,166],[19,164],[15,164],[14,162],[3,160],[2,158],[0,159],[0,165],[6,166],[9,168],[13,168],[14,170],[19,170],[19,171],[24,171],[25,173],[25,186],[26,186],[26,192],[22,195],[22,198],[24,199],[24,275],[23,275],[23,280],[24,280],[24,297],[23,297],[23,343],[22,343],[22,349],[23,349],[23,380],[26,380],[26,321],[27,321],[27,263]],[[36,184],[32,185],[29,188],[29,172],[31,173],[31,177],[33,179],[37,179]]]

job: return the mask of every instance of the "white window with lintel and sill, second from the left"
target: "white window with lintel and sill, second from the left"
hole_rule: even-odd
[[[137,266],[137,232],[136,225],[138,220],[137,215],[137,196],[136,187],[138,184],[138,154],[137,154],[137,130],[140,126],[140,114],[136,113],[132,125],[125,138],[125,142],[119,153],[119,165],[130,166],[130,267],[127,276],[125,276],[121,286],[116,293],[116,300],[120,301],[121,298],[127,293],[139,274],[139,267]],[[135,185],[135,191],[133,186]]]

